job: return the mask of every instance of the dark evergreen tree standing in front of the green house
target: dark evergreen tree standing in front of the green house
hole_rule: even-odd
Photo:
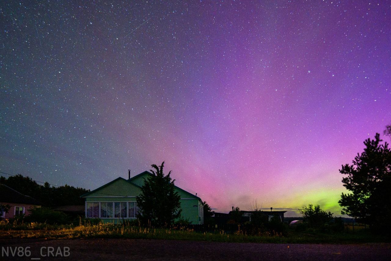
[[[137,217],[143,224],[165,227],[181,216],[181,197],[175,191],[171,171],[167,175],[163,173],[164,161],[161,166],[151,166],[155,169],[151,169],[153,176],[144,180],[142,193],[136,197],[140,209]]]

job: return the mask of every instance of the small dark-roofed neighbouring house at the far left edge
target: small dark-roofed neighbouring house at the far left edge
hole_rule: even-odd
[[[4,184],[0,184],[0,204],[11,206],[7,213],[0,212],[0,217],[7,219],[21,214],[27,216],[33,207],[41,207],[41,203],[35,198],[23,195]]]

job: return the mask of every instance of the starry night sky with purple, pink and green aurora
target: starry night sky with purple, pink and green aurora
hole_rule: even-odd
[[[6,173],[95,189],[164,160],[218,212],[340,215],[341,164],[391,123],[388,1],[2,1],[0,17]]]

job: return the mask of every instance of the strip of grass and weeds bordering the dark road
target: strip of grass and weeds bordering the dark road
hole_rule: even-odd
[[[222,230],[213,232],[195,232],[186,227],[153,229],[139,226],[114,224],[85,225],[47,225],[29,223],[16,226],[4,226],[0,223],[0,238],[130,238],[130,239],[174,239],[194,241],[236,242],[236,243],[375,243],[390,242],[387,237],[374,236],[368,230],[356,232],[265,232],[258,236],[249,236],[241,232],[227,234]]]

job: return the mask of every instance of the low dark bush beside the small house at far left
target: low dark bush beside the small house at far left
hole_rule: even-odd
[[[70,218],[60,211],[47,207],[35,207],[30,210],[30,215],[25,217],[25,221],[63,225],[70,223]]]

